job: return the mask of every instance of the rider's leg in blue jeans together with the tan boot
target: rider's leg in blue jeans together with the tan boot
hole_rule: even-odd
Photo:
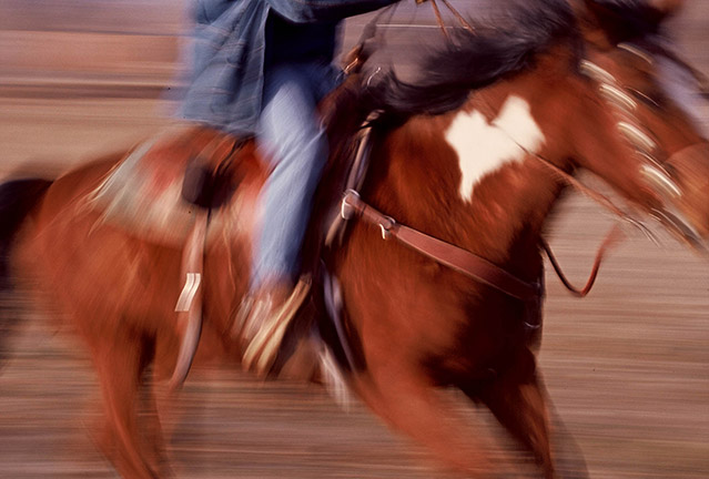
[[[300,253],[310,221],[313,195],[327,160],[325,131],[316,106],[331,81],[318,65],[272,69],[264,84],[264,108],[257,137],[273,172],[262,192],[262,227],[254,245],[251,291],[254,304],[246,318],[249,342],[244,364],[267,373],[265,350],[280,343],[276,326],[300,274]],[[275,319],[277,318],[277,320]],[[265,326],[264,326],[265,325]],[[275,338],[275,339],[274,339]]]

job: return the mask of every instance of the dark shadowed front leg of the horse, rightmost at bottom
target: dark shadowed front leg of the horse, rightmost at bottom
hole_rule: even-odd
[[[531,353],[523,354],[518,363],[482,390],[465,386],[462,389],[472,398],[480,399],[534,455],[545,478],[555,478],[546,391],[535,371]]]

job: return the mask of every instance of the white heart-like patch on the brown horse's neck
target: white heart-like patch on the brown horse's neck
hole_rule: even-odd
[[[446,140],[458,154],[460,196],[470,201],[473,188],[483,176],[507,163],[524,161],[525,151],[537,152],[545,137],[529,103],[513,95],[492,123],[475,110],[459,113],[446,132]]]

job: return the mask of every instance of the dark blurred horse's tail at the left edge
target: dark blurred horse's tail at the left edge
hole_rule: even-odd
[[[8,356],[8,343],[20,314],[12,298],[10,253],[20,226],[52,184],[49,180],[12,180],[0,184],[0,367]]]

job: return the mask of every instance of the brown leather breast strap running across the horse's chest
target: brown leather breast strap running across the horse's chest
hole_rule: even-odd
[[[477,256],[467,249],[452,245],[425,233],[397,223],[376,208],[366,204],[359,195],[350,190],[342,202],[342,216],[350,220],[353,216],[364,220],[368,224],[379,227],[382,237],[394,237],[408,247],[440,263],[456,272],[494,287],[509,296],[521,300],[534,300],[541,294],[539,283],[527,283],[507,271]]]

